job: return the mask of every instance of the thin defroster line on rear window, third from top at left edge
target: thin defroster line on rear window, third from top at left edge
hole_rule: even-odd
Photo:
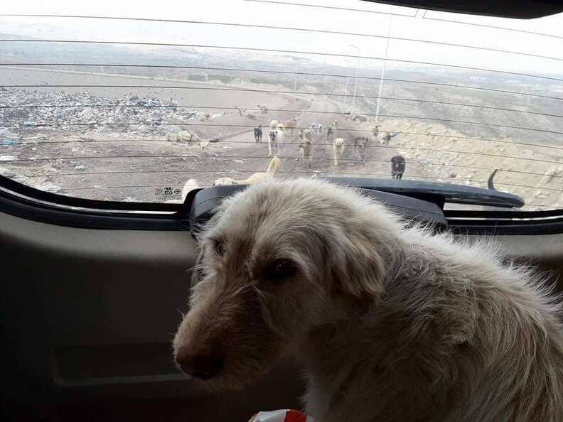
[[[244,69],[244,68],[237,68],[237,67],[208,67],[208,66],[181,66],[181,65],[120,65],[120,64],[115,64],[115,63],[95,63],[95,64],[85,64],[85,63],[0,63],[0,66],[149,67],[149,68],[164,68],[164,69],[170,68],[170,69],[191,69],[191,70],[220,70],[220,71],[228,71],[228,72],[259,72],[259,73],[274,73],[274,74],[281,74],[281,75],[350,77],[350,79],[358,78],[358,79],[363,79],[363,80],[381,80],[381,77],[376,77],[376,76],[339,75],[339,74],[333,74],[333,73],[313,73],[313,72],[291,72],[291,71],[284,71],[284,70]],[[36,69],[36,70],[41,70],[41,69]],[[130,75],[130,76],[134,77],[135,75]],[[405,79],[397,79],[397,78],[390,78],[390,77],[384,77],[383,80],[385,80],[385,82],[404,82],[404,83],[412,83],[412,84],[420,84],[420,85],[435,85],[435,86],[440,86],[440,87],[462,88],[462,89],[466,89],[466,90],[480,90],[480,91],[488,91],[488,92],[499,92],[499,93],[502,93],[502,94],[518,94],[518,95],[524,95],[524,96],[527,96],[527,97],[557,99],[559,101],[563,100],[563,97],[553,97],[551,95],[532,94],[531,92],[519,92],[519,91],[510,91],[510,90],[498,90],[498,89],[495,89],[495,88],[486,88],[486,87],[471,87],[469,85],[446,84],[446,83],[443,83],[443,82],[429,82],[429,81],[422,81],[422,80],[405,80]],[[311,94],[314,94],[314,93],[311,93]]]

